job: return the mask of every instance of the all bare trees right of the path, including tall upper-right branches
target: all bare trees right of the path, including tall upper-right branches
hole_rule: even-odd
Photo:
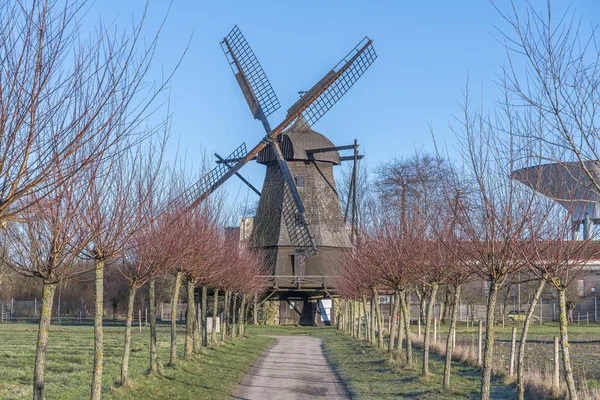
[[[566,295],[581,269],[598,258],[591,238],[572,240],[571,220],[581,214],[581,200],[593,203],[591,199],[600,194],[597,30],[587,28],[572,9],[557,11],[549,1],[543,8],[514,2],[504,6],[497,5],[501,23],[496,26],[507,52],[498,79],[501,96],[491,109],[474,108],[468,88],[465,91],[462,115],[452,126],[462,163],[450,165],[444,161],[449,158],[446,152],[438,148],[432,156],[417,154],[381,165],[376,170],[376,190],[371,191],[378,196],[359,205],[366,217],[361,219],[354,253],[338,274],[336,287],[349,304],[362,302],[369,321],[367,340],[379,346],[384,344],[381,312],[377,301],[371,301],[372,309],[367,310],[367,299],[377,299],[381,292],[393,294],[397,300],[394,315],[406,316],[406,293],[415,293],[425,321],[426,375],[431,305],[439,287],[449,285],[457,299],[466,282],[483,279],[489,290],[481,398],[488,399],[498,295],[521,272],[533,276],[537,287],[521,332],[518,397],[524,397],[525,343],[533,309],[549,286],[560,304],[568,397],[576,399]],[[562,190],[555,199],[560,205],[535,191],[544,192],[541,186],[532,184],[534,190],[530,190],[511,179],[515,170],[548,163],[556,164],[557,181],[551,184]],[[543,182],[547,179],[540,170],[531,183],[548,184]],[[583,199],[582,191],[587,191]],[[455,329],[455,313],[456,301],[448,338]],[[344,316],[351,318],[348,310]],[[406,360],[410,362],[409,319],[399,321],[406,331]],[[394,346],[402,347],[401,335],[398,339],[394,335],[392,327],[391,354]],[[447,341],[445,387],[450,380],[452,343]]]

